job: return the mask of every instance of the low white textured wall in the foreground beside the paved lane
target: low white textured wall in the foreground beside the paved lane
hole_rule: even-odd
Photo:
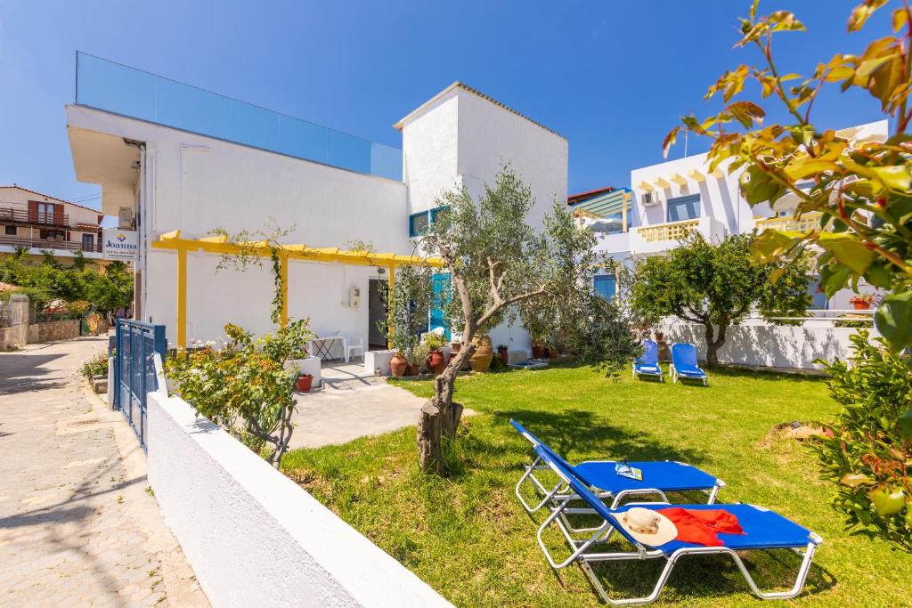
[[[214,606],[450,606],[180,397],[149,395],[149,481]]]

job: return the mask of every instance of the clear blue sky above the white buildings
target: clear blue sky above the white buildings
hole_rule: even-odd
[[[781,36],[783,72],[885,36],[887,13],[845,33],[855,1],[765,1],[809,27]],[[392,124],[453,80],[516,108],[570,141],[569,190],[627,186],[661,161],[679,115],[725,69],[755,62],[732,49],[748,0],[679,2],[237,2],[0,0],[0,183],[83,199],[64,105],[75,52],[106,57],[229,97],[401,146]],[[880,119],[876,102],[834,89],[816,122]],[[772,118],[777,118],[776,114]],[[705,151],[690,140],[689,153]],[[683,155],[683,147],[669,158]]]

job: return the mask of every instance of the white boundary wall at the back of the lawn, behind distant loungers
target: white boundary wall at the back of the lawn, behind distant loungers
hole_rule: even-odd
[[[665,339],[689,342],[697,347],[700,359],[706,357],[706,337],[702,325],[664,325]],[[743,366],[820,369],[815,359],[852,357],[849,336],[857,330],[849,327],[793,327],[779,325],[739,325],[730,327],[725,344],[719,351],[719,362]],[[876,335],[872,330],[871,335]]]

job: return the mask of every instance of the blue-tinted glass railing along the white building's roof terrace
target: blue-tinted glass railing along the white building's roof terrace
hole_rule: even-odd
[[[400,149],[85,53],[77,53],[76,64],[79,105],[402,180]]]

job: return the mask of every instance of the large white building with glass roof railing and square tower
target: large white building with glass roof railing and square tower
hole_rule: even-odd
[[[275,222],[291,230],[282,242],[411,254],[437,197],[460,184],[478,195],[503,161],[532,188],[534,222],[566,197],[566,139],[461,83],[395,127],[402,150],[82,54],[77,103],[67,106],[78,180],[100,185],[102,211],[139,232],[136,316],[166,325],[172,344],[177,253],[151,246],[164,233],[198,239]],[[220,271],[218,255],[186,255],[188,338],[218,339],[229,322],[273,326],[265,267]],[[388,278],[382,266],[292,261],[288,314],[309,317],[317,335],[382,343]],[[498,327],[492,340],[529,348],[521,327]]]

